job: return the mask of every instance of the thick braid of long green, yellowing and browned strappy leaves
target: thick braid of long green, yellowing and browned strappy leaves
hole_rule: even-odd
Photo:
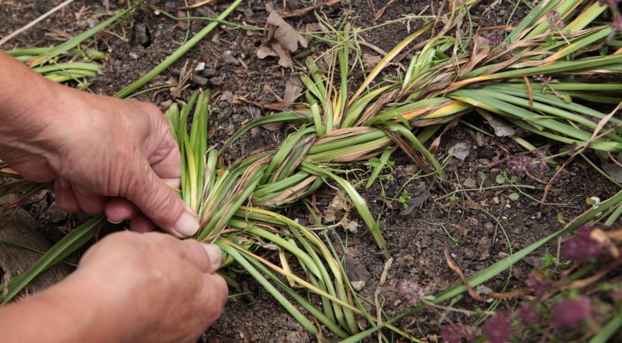
[[[622,73],[620,33],[598,21],[606,6],[586,0],[541,1],[507,36],[495,39],[480,29],[465,44],[459,35],[447,33],[462,22],[469,4],[455,6],[439,33],[418,44],[404,75],[377,80],[401,51],[436,23],[423,26],[389,51],[352,94],[350,53],[357,31],[347,25],[335,30],[338,44],[332,49],[329,70],[322,71],[311,56],[305,60],[308,75],[300,79],[307,103],[252,121],[220,150],[207,144],[209,91],[194,93],[187,103],[167,111],[182,153],[180,195],[199,214],[195,238],[219,245],[226,255],[223,267],[235,262],[247,270],[312,334],[320,333],[316,323],[321,323],[335,336],[352,337],[354,342],[386,327],[416,341],[392,322],[378,325],[355,302],[334,250],[314,230],[279,214],[325,182],[335,182],[352,198],[388,257],[387,242],[365,199],[340,176],[352,164],[380,156],[369,186],[400,148],[420,169],[445,179],[443,167],[424,144],[443,125],[473,111],[503,117],[577,150],[622,151],[621,121],[594,108],[603,106],[591,106],[622,100],[622,86],[611,82]],[[335,79],[340,84],[334,84]],[[295,130],[278,149],[256,151],[224,165],[221,154],[231,144],[253,127],[272,122],[289,122]],[[621,199],[618,193],[608,204],[620,209]],[[279,264],[265,257],[265,247],[277,249]],[[495,264],[474,280],[483,282],[515,261],[508,258]],[[463,290],[453,287],[437,300]],[[357,316],[366,317],[372,329],[358,333]]]

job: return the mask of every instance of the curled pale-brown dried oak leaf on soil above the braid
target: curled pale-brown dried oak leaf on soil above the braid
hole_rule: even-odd
[[[307,39],[298,33],[277,12],[270,12],[266,21],[266,35],[262,46],[257,49],[257,57],[265,59],[267,56],[279,56],[279,65],[294,66],[290,53],[298,49],[298,44],[306,48]]]

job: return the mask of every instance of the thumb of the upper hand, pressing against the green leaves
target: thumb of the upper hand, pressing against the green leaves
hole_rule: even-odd
[[[157,176],[146,160],[138,169],[133,182],[127,186],[125,198],[160,229],[179,238],[196,234],[199,231],[197,214]]]

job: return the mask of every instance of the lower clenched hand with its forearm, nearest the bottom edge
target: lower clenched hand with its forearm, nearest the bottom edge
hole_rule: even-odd
[[[227,299],[227,284],[215,273],[220,259],[214,245],[169,234],[109,234],[62,282],[0,307],[2,338],[196,342]]]

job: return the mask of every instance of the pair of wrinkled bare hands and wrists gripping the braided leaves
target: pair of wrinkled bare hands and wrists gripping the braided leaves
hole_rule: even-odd
[[[0,51],[0,159],[54,181],[60,209],[104,212],[134,231],[94,244],[63,282],[0,307],[3,340],[195,342],[219,316],[219,249],[172,236],[192,236],[198,220],[172,189],[179,148],[156,106],[54,84]]]

